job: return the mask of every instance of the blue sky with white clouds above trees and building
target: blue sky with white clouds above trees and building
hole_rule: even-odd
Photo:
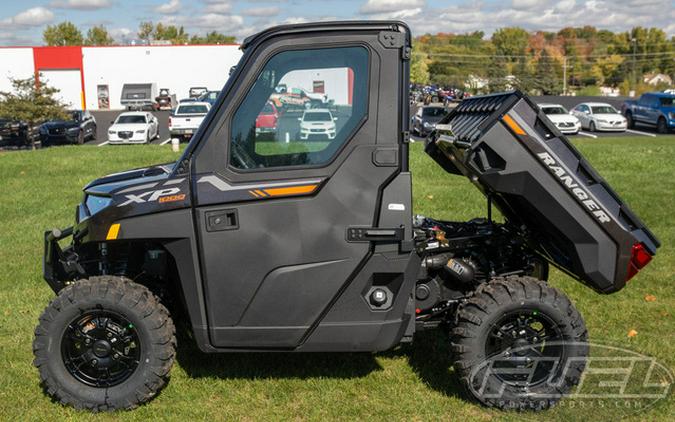
[[[241,40],[273,25],[345,19],[401,19],[414,35],[593,25],[613,31],[655,26],[674,36],[675,0],[0,0],[0,45],[41,45],[44,28],[64,20],[83,33],[104,25],[124,43],[143,21]]]

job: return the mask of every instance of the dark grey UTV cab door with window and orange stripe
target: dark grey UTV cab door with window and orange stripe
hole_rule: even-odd
[[[206,119],[192,186],[215,347],[298,347],[378,245],[396,255],[390,271],[404,270],[395,258],[412,232],[409,178],[387,195],[396,214],[380,224],[383,191],[405,170],[408,34],[392,28],[309,27],[254,41]],[[289,94],[315,81],[327,102]],[[270,103],[277,124],[256,125]],[[369,309],[355,299],[358,312]]]

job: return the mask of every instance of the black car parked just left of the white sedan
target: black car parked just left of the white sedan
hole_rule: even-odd
[[[96,139],[96,119],[88,111],[68,112],[69,120],[51,120],[40,127],[42,146],[83,144]]]

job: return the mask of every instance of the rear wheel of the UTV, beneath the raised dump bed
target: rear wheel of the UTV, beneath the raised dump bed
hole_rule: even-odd
[[[587,331],[570,300],[532,277],[497,278],[457,311],[455,371],[473,397],[501,409],[552,407],[579,383]]]

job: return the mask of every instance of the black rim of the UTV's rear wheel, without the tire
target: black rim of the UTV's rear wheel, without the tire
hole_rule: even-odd
[[[536,309],[518,309],[492,325],[485,353],[494,359],[493,374],[500,381],[530,388],[553,380],[564,365],[563,333],[548,315]]]

